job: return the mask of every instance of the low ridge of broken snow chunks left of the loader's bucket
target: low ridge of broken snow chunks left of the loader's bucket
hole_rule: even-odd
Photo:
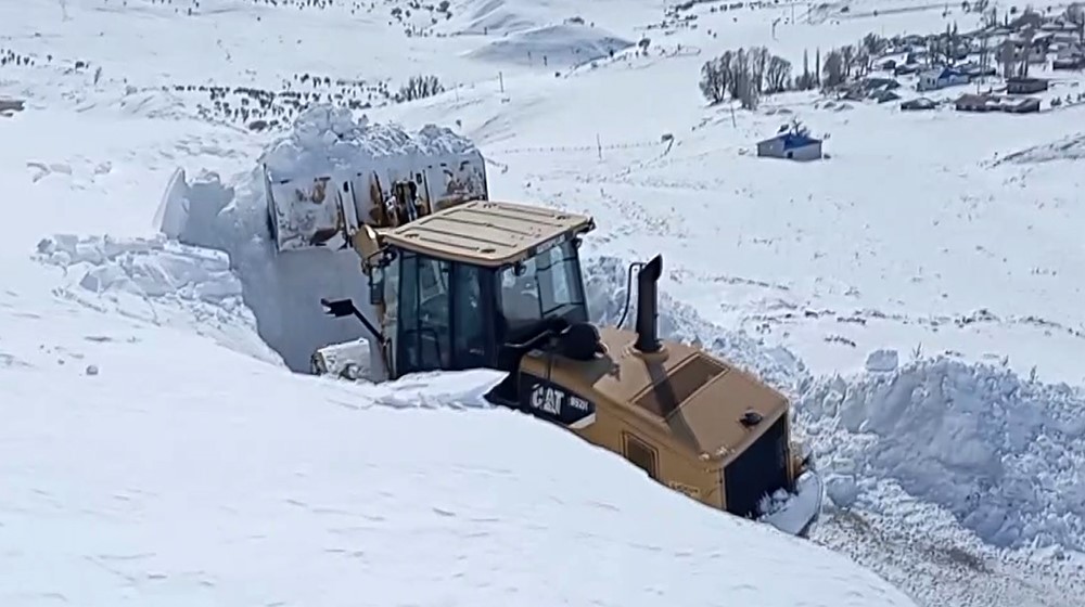
[[[82,306],[195,332],[257,359],[282,364],[259,339],[225,255],[156,240],[60,234],[38,259],[64,270],[56,294]]]

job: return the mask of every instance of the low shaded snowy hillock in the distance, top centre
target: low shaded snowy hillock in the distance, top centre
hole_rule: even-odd
[[[549,67],[580,65],[633,46],[605,29],[578,24],[548,25],[488,42],[468,56],[483,61]]]

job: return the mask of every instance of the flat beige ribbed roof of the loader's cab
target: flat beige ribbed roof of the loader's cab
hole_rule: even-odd
[[[552,241],[595,229],[588,216],[495,201],[472,201],[384,232],[386,244],[441,259],[500,267]]]

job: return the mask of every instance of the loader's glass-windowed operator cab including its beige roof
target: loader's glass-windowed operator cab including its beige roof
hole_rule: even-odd
[[[370,262],[388,378],[516,370],[524,352],[588,318],[579,234],[588,217],[476,201],[384,232]]]

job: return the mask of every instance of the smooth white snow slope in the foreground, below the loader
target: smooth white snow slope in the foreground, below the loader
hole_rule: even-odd
[[[0,604],[914,606],[564,430],[474,411],[493,373],[361,386],[144,339],[80,343],[93,377],[4,372]]]

